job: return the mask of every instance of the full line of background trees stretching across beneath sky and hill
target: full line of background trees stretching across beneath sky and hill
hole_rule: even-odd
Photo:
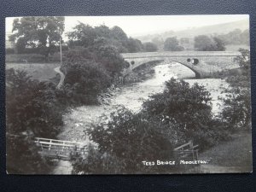
[[[64,17],[22,17],[14,20],[13,34],[9,40],[15,42],[18,53],[39,53],[48,60],[60,49],[61,36],[65,29]],[[75,47],[89,48],[98,38],[105,38],[108,44],[117,48],[119,53],[153,52],[158,49],[166,51],[181,51],[186,44],[191,44],[189,38],[170,37],[165,40],[154,38],[151,42],[142,43],[136,38],[131,38],[119,27],[113,26],[89,26],[79,22],[73,27],[72,32],[67,32],[67,45],[62,45],[63,50]],[[225,50],[226,44],[249,44],[249,32],[236,29],[227,34],[215,34],[213,36],[199,35],[194,38],[194,48],[200,51]],[[13,49],[7,49],[7,53],[13,53]]]

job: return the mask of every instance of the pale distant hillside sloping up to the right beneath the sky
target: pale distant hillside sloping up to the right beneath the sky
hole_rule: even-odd
[[[135,37],[141,40],[142,42],[151,41],[153,38],[170,38],[173,36],[177,36],[177,38],[194,38],[198,35],[214,35],[214,34],[225,34],[231,32],[235,29],[241,29],[244,31],[249,28],[249,20],[238,20],[235,22],[229,22],[224,24],[212,25],[212,26],[201,26],[195,28],[189,28],[182,31],[169,31],[169,32],[161,32],[155,34],[148,34],[145,36]]]

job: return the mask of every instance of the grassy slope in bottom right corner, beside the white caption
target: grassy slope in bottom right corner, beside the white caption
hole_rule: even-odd
[[[199,166],[198,172],[250,172],[252,171],[252,133],[241,131],[231,136],[228,142],[221,143],[200,154],[200,160],[211,160]]]

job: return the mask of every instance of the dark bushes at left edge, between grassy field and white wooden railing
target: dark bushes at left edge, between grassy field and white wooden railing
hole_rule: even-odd
[[[7,125],[11,133],[32,131],[38,137],[55,137],[62,125],[55,84],[30,79],[23,71],[6,71]]]

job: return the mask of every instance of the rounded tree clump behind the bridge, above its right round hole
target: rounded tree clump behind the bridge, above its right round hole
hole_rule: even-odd
[[[224,41],[220,38],[209,38],[207,35],[199,35],[194,38],[194,47],[200,51],[221,51],[225,50]]]

